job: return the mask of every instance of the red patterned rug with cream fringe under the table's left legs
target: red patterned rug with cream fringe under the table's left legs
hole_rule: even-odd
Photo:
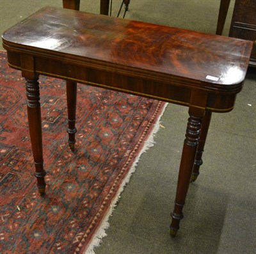
[[[0,52],[0,253],[93,253],[165,103],[79,84],[71,152],[65,82],[40,77],[40,89],[44,197],[33,176],[24,80]]]

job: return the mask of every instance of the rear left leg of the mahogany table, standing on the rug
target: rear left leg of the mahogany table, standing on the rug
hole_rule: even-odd
[[[75,149],[76,143],[76,82],[67,81],[67,108],[68,108],[68,144],[71,151]]]

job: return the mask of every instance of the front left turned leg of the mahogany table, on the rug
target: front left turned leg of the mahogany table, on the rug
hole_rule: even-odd
[[[42,122],[40,108],[40,91],[38,77],[34,79],[26,78],[26,95],[28,105],[28,124],[31,146],[35,163],[35,177],[37,179],[38,190],[41,195],[45,192],[45,170],[42,147]]]

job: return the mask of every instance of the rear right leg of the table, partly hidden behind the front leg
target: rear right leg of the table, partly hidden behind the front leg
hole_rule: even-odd
[[[205,116],[202,120],[202,127],[200,131],[200,138],[198,142],[198,147],[196,151],[196,158],[193,168],[193,173],[191,176],[191,182],[195,182],[196,178],[199,175],[199,168],[203,164],[202,155],[204,153],[205,140],[207,138],[207,133],[209,130],[210,122],[211,122],[212,112],[210,110],[205,111]]]

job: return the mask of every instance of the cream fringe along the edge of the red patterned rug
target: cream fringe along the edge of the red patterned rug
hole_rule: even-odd
[[[120,188],[118,189],[118,191],[116,191],[116,197],[113,198],[113,201],[112,201],[111,205],[109,206],[109,211],[106,213],[106,215],[105,215],[104,219],[102,220],[102,222],[100,223],[99,228],[97,229],[97,232],[95,233],[90,245],[88,246],[88,248],[86,248],[86,250],[83,252],[83,254],[95,254],[94,248],[99,247],[100,244],[102,243],[102,238],[107,235],[106,230],[109,228],[109,222],[108,222],[109,216],[111,216],[113,214],[116,204],[121,197],[120,194],[122,193],[122,191],[124,191],[126,184],[129,183],[132,173],[135,172],[136,166],[138,165],[138,162],[140,161],[141,154],[146,153],[150,147],[152,147],[156,144],[156,141],[154,140],[154,138],[156,137],[157,131],[159,131],[159,129],[161,128],[160,119],[163,116],[164,110],[166,109],[167,105],[168,105],[168,103],[165,103],[165,105],[163,106],[162,112],[159,114],[158,119],[157,119],[156,123],[154,124],[152,133],[149,135],[147,140],[145,140],[143,149],[141,149],[136,160],[134,161],[134,163],[132,163],[132,167],[130,168],[129,172],[125,176],[123,183],[120,185]]]

